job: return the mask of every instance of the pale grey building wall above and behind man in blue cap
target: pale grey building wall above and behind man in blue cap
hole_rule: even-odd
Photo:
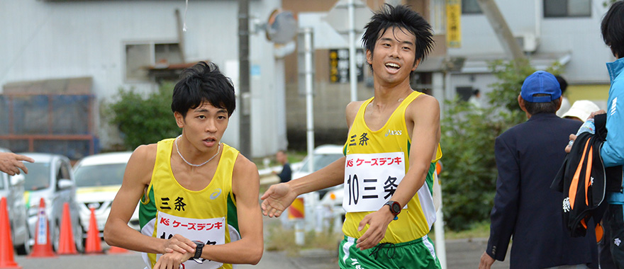
[[[589,1],[591,16],[559,18],[545,18],[543,0],[495,2],[513,35],[534,35],[537,38],[537,49],[527,53],[529,59],[550,59],[550,62],[567,60],[562,76],[572,86],[569,88],[570,96],[587,96],[589,91],[594,91],[596,96],[603,95],[603,86],[609,83],[605,62],[612,62],[615,58],[601,38],[600,23],[608,9],[602,1]],[[501,42],[483,14],[462,14],[462,47],[450,48],[448,55],[466,57],[467,61],[486,57],[511,58],[504,55]],[[473,81],[465,81],[463,74],[452,74],[452,86],[460,84],[458,81],[465,81],[474,88],[481,88],[481,92],[490,91],[489,86],[484,87],[480,82],[489,81],[484,78],[489,75],[481,73],[472,76]],[[590,87],[575,88],[575,85]],[[455,91],[455,88],[447,90]],[[575,94],[574,91],[584,93]],[[571,98],[571,101],[574,99]]]

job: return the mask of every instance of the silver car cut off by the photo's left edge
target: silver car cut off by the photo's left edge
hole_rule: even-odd
[[[0,148],[0,152],[9,152],[8,149]],[[26,202],[24,202],[24,176],[23,173],[9,176],[0,172],[0,198],[6,198],[6,210],[9,212],[11,236],[13,246],[20,255],[30,253],[28,241],[28,218],[26,215]]]

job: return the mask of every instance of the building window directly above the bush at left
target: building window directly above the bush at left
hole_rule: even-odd
[[[148,81],[150,67],[181,63],[178,43],[126,44],[126,81]]]

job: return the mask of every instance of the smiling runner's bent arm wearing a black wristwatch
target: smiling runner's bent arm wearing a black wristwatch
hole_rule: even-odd
[[[416,98],[406,110],[406,122],[413,121],[411,132],[412,144],[409,154],[408,171],[399,186],[396,187],[391,200],[404,207],[407,202],[423,187],[425,178],[435,158],[435,149],[440,142],[440,105],[432,96]],[[368,214],[360,222],[360,231],[369,227],[357,240],[357,248],[367,249],[379,244],[386,235],[386,229],[394,219],[389,207],[383,206],[377,212]]]

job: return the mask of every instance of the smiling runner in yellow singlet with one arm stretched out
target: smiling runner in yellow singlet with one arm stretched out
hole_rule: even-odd
[[[345,157],[303,178],[272,185],[262,211],[279,217],[302,193],[344,183],[347,211],[340,268],[440,268],[428,231],[442,156],[440,105],[413,91],[410,74],[433,49],[431,27],[406,6],[384,6],[362,37],[374,97],[347,105]]]

